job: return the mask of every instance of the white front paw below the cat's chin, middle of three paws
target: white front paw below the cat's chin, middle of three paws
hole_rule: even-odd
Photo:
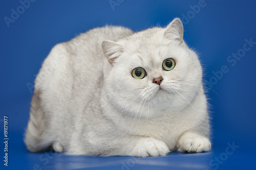
[[[167,145],[155,138],[141,138],[135,148],[133,149],[131,156],[136,157],[150,157],[150,156],[165,156],[169,153]]]

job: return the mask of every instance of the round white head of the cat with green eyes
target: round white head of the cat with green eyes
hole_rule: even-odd
[[[104,89],[123,114],[155,117],[179,112],[202,88],[197,54],[183,41],[175,18],[166,28],[134,33],[117,42],[105,40],[102,50]]]

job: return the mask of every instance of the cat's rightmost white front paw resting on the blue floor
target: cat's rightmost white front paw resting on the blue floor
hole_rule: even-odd
[[[183,137],[178,141],[178,152],[200,153],[210,151],[210,141],[206,137]]]

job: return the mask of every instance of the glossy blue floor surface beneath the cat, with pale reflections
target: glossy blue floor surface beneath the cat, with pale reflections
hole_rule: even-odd
[[[70,156],[55,152],[29,153],[20,135],[9,143],[6,169],[256,169],[252,144],[228,142],[212,145],[205,153],[169,153],[163,157]],[[231,145],[231,147],[230,147]]]

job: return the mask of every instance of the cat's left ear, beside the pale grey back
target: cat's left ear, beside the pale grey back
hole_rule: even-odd
[[[109,60],[111,64],[124,51],[122,45],[110,40],[102,41],[101,48],[104,56]]]

